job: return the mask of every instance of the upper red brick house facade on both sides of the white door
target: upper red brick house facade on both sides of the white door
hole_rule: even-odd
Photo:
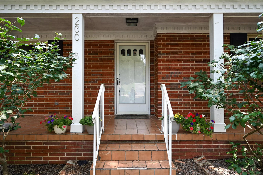
[[[224,42],[230,43],[230,34],[224,34]],[[85,40],[84,74],[84,114],[93,111],[100,84],[106,85],[105,115],[114,114],[114,40]],[[63,42],[64,56],[72,51],[72,41]],[[210,114],[206,101],[193,99],[180,82],[200,70],[209,71],[209,34],[180,33],[158,34],[150,42],[150,106],[151,115],[160,117],[160,85],[165,83],[174,113],[185,115],[188,112]],[[72,74],[72,69],[66,71]],[[38,97],[32,98],[26,107],[33,111],[27,115],[50,115],[54,112],[63,115],[72,113],[72,77],[52,82],[37,89]],[[54,103],[59,105],[55,106]]]

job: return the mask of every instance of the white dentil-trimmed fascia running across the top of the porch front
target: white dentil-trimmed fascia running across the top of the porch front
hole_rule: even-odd
[[[0,13],[238,13],[262,10],[262,0],[1,0],[0,4]]]

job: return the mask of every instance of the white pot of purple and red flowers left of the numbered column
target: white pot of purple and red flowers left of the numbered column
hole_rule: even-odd
[[[73,118],[71,116],[64,115],[57,117],[57,114],[55,113],[54,115],[45,118],[40,124],[44,123],[48,132],[55,131],[56,134],[63,134],[66,132],[67,126],[72,124],[72,120]]]

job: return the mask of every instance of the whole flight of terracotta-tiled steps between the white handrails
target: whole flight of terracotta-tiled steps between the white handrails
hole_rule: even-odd
[[[101,143],[98,155],[96,175],[169,175],[165,143]]]

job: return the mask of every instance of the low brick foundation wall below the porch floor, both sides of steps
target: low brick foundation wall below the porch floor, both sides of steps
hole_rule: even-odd
[[[241,143],[242,140],[233,141]],[[262,140],[248,141],[263,143]],[[67,160],[92,160],[93,141],[61,140],[61,141],[9,141],[7,142],[8,164],[64,164]],[[252,147],[253,147],[252,146]],[[191,159],[205,156],[206,159],[224,159],[231,157],[226,152],[231,145],[227,140],[180,140],[172,141],[172,159]],[[239,149],[241,150],[241,149]],[[242,155],[238,152],[237,155]]]

